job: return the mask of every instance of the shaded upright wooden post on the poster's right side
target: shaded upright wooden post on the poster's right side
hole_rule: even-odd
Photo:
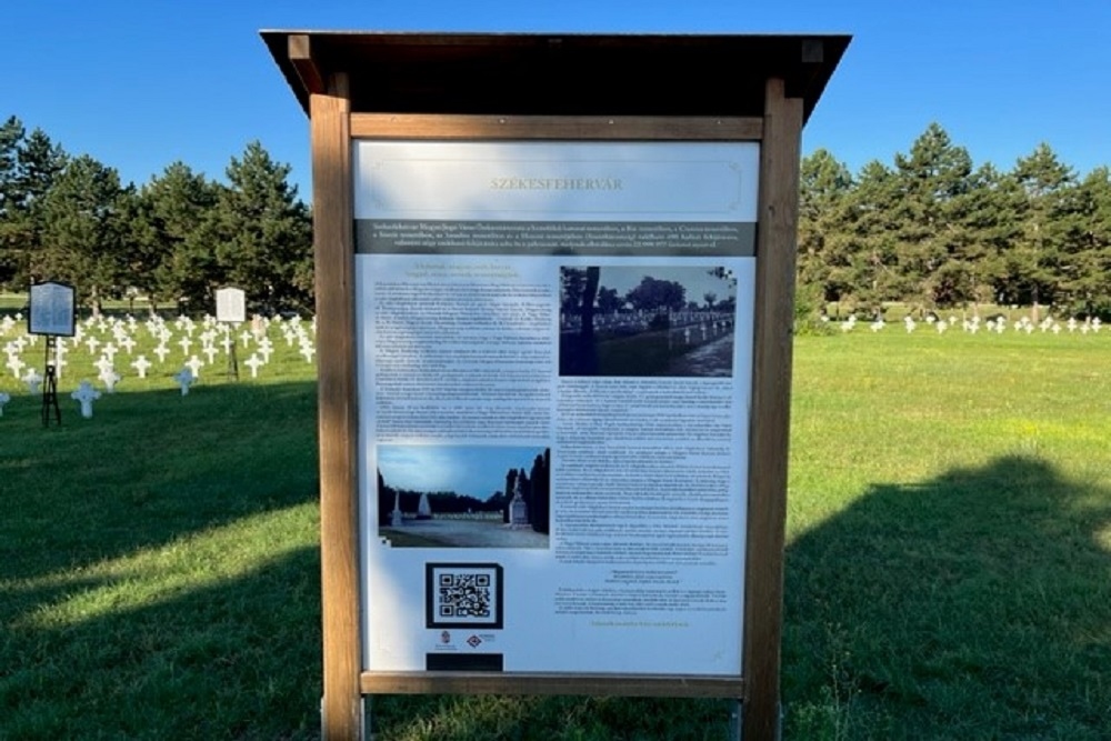
[[[757,297],[742,673],[743,738],[778,738],[791,326],[802,100],[770,79],[760,148]]]

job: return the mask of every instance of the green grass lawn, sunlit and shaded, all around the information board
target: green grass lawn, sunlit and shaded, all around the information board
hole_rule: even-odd
[[[173,363],[140,381],[118,362],[90,420],[69,392],[97,371],[74,351],[47,429],[0,367],[0,739],[318,735],[316,389],[274,346],[258,379],[206,369],[187,397]],[[1108,331],[797,341],[788,739],[1108,738],[1109,360]],[[720,739],[727,715],[620,698],[373,710],[382,741]]]

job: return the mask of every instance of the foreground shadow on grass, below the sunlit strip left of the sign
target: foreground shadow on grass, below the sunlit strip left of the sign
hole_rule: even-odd
[[[6,629],[0,738],[319,738],[319,573],[302,548],[138,609]]]

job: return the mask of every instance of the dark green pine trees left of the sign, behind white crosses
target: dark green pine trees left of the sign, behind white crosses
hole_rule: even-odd
[[[236,286],[256,311],[311,311],[311,213],[290,170],[251,142],[227,183],[178,161],[137,187],[11,117],[0,126],[0,289],[60,280],[93,312],[141,294],[154,310],[202,313]]]

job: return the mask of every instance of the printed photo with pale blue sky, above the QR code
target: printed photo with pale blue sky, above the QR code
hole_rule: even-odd
[[[378,445],[378,535],[394,548],[548,548],[551,451]]]

